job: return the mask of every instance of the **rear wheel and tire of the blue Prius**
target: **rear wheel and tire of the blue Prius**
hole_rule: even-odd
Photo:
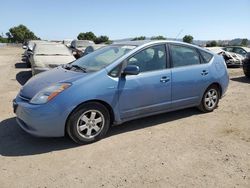
[[[214,92],[214,95],[212,96],[212,93]],[[209,97],[209,93],[211,97]],[[216,100],[215,97],[216,96]],[[202,100],[200,105],[198,106],[198,109],[202,112],[212,112],[215,108],[217,108],[218,103],[220,100],[220,90],[218,86],[211,85],[207,88],[205,93],[203,94]]]

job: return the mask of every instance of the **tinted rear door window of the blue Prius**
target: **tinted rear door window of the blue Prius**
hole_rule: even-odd
[[[200,56],[194,48],[170,45],[172,67],[182,67],[200,64]]]

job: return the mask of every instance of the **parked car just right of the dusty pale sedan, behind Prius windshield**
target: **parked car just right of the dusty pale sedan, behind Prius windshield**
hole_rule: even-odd
[[[70,49],[72,50],[75,58],[80,58],[83,56],[84,50],[95,43],[90,40],[73,40],[70,45]]]

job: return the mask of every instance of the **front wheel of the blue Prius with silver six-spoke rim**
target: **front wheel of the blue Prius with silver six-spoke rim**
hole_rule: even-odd
[[[96,123],[92,122],[94,121],[93,118],[91,119],[92,113],[96,113],[95,117],[97,117],[97,119],[94,119],[96,120]],[[98,121],[100,121],[100,118],[102,119],[102,122],[97,122],[98,119]],[[84,127],[84,129],[80,130],[80,127]],[[100,129],[96,131],[96,127],[99,127]],[[89,144],[102,139],[106,135],[109,127],[110,114],[107,108],[100,103],[89,102],[80,105],[72,112],[67,121],[66,131],[70,138],[76,143]],[[93,133],[93,135],[88,136],[89,130],[91,130],[90,134]]]

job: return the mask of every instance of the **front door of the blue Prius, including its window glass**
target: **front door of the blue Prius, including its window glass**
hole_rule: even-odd
[[[166,45],[151,46],[127,59],[137,65],[138,75],[119,80],[119,110],[122,119],[167,110],[171,106],[171,71],[167,69]]]

